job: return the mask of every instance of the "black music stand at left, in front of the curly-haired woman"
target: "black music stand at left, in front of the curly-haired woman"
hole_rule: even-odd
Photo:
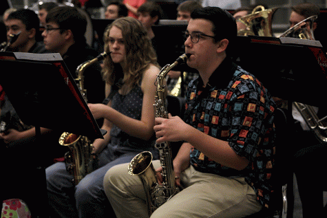
[[[41,136],[41,127],[85,135],[91,140],[103,138],[60,54],[1,52],[0,65],[6,71],[0,73],[0,84],[19,118],[35,127],[36,141]],[[35,146],[42,159],[46,144],[36,143]],[[30,196],[36,205],[28,204],[33,217],[49,217],[45,167],[42,163],[40,160],[36,166],[39,169],[34,175],[37,179],[32,176],[25,178],[31,179],[36,188],[33,196]],[[25,179],[21,184],[28,183]]]

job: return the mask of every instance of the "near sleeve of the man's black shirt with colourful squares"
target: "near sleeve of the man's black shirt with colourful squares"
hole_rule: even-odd
[[[252,89],[252,90],[251,90]],[[229,145],[242,157],[253,162],[258,155],[271,156],[273,144],[273,110],[271,99],[263,90],[253,90],[253,83],[238,87],[240,96],[230,105]]]

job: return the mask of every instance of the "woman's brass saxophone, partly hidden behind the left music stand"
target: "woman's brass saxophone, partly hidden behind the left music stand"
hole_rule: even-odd
[[[78,82],[78,88],[81,91],[81,94],[85,101],[87,102],[86,98],[86,89],[84,88],[84,71],[89,65],[96,63],[97,61],[101,61],[105,58],[108,54],[103,52],[102,54],[98,55],[96,58],[92,59],[91,61],[86,61],[79,65],[76,69],[77,78],[76,81]],[[65,163],[67,171],[74,175],[74,183],[75,185],[78,182],[81,182],[83,177],[88,173],[93,171],[93,154],[92,154],[92,144],[91,140],[83,135],[76,135],[74,133],[67,133],[64,132],[61,134],[59,138],[59,144],[62,146],[68,146],[70,149],[69,152],[65,154]]]

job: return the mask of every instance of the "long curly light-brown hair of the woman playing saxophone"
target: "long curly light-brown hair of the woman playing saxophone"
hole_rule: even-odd
[[[158,66],[156,52],[142,23],[132,17],[116,19],[107,26],[103,36],[105,52],[109,52],[109,32],[114,26],[122,31],[126,49],[125,65],[120,67],[107,56],[104,60],[103,79],[105,83],[114,85],[123,78],[123,85],[130,90],[134,85],[140,85],[143,73],[151,64]]]

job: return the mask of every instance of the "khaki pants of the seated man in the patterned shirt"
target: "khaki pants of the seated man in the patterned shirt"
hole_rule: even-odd
[[[158,160],[154,168],[160,166]],[[117,217],[149,217],[146,194],[140,177],[127,173],[128,164],[112,167],[105,175],[105,193]],[[245,217],[259,211],[255,191],[243,177],[221,177],[196,171],[181,174],[186,188],[151,215],[157,217]]]

